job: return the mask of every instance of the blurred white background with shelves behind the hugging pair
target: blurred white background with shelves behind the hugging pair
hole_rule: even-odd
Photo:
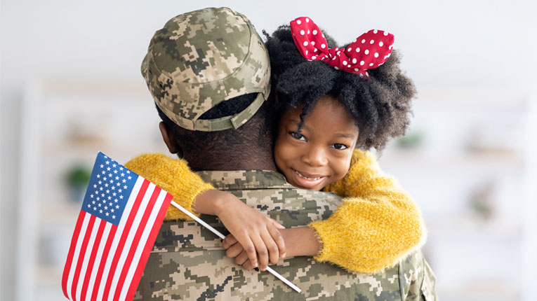
[[[206,6],[230,6],[247,15],[258,31],[268,32],[307,15],[342,44],[373,28],[395,34],[395,48],[403,54],[402,68],[415,81],[420,99],[409,139],[390,146],[380,162],[415,195],[430,224],[425,251],[439,276],[444,300],[536,300],[528,289],[537,281],[535,273],[529,272],[537,269],[533,233],[537,230],[533,204],[537,167],[531,155],[537,151],[537,4],[532,0],[2,0],[1,300],[22,300],[17,279],[27,271],[20,269],[25,260],[20,256],[25,248],[41,253],[46,244],[42,237],[25,241],[24,235],[33,232],[20,229],[21,225],[25,228],[24,218],[34,217],[26,215],[32,210],[21,204],[46,202],[40,199],[41,190],[34,191],[35,185],[42,184],[25,182],[25,175],[31,175],[32,165],[39,165],[35,166],[37,179],[48,179],[59,187],[65,170],[45,164],[43,153],[74,154],[63,161],[55,158],[70,164],[76,163],[77,155],[89,153],[86,157],[92,159],[100,150],[95,144],[86,144],[88,137],[74,147],[52,143],[72,125],[62,118],[77,119],[81,114],[78,119],[84,119],[84,108],[97,112],[107,104],[95,104],[95,99],[117,101],[121,105],[112,106],[114,117],[123,113],[147,116],[147,122],[137,126],[150,144],[131,144],[131,148],[100,145],[109,145],[120,161],[161,149],[158,119],[140,76],[140,62],[152,34],[166,20]],[[128,108],[129,98],[137,99],[132,109]],[[117,131],[104,139],[121,141],[117,137],[124,137],[127,144],[135,139],[128,128],[107,123],[111,116],[98,116]],[[124,121],[128,123],[128,118]],[[88,128],[95,130],[94,125],[90,123]],[[44,130],[40,132],[41,126]],[[470,155],[450,156],[468,149]],[[451,164],[452,160],[456,163]],[[54,161],[48,162],[53,165]],[[46,174],[49,168],[56,174]],[[37,200],[25,199],[28,196]],[[491,219],[491,212],[500,218]],[[470,217],[452,218],[461,215]],[[39,223],[32,225],[39,227]],[[69,236],[71,231],[67,227],[67,234],[62,235]],[[491,234],[497,232],[499,237]],[[483,235],[491,238],[477,239]],[[499,251],[489,252],[493,250]],[[472,252],[477,258],[483,255],[482,265],[472,266],[473,259],[467,256]],[[466,261],[461,259],[465,257]],[[39,264],[51,259],[36,260]],[[463,262],[465,269],[456,262]],[[495,272],[504,274],[503,278],[490,276]],[[461,286],[457,279],[468,273],[475,275],[462,282],[470,287]],[[498,283],[508,281],[504,279],[512,283],[498,290]],[[41,295],[40,300],[47,300],[46,296]]]

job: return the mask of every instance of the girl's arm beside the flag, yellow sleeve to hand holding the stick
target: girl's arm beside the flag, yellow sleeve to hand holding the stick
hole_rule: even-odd
[[[225,228],[244,246],[253,266],[257,266],[258,260],[260,269],[265,269],[268,262],[276,263],[286,255],[284,239],[278,231],[283,226],[231,193],[215,190],[190,170],[186,160],[147,154],[127,162],[125,167],[166,190],[173,195],[173,201],[188,211],[196,215],[218,216]],[[192,221],[192,218],[172,206],[164,219]]]

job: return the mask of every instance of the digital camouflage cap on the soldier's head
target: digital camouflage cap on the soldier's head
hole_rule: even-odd
[[[204,8],[166,22],[151,40],[142,75],[159,109],[187,130],[237,129],[270,93],[265,43],[250,20],[230,8]],[[234,116],[199,119],[220,102],[255,92],[258,97]]]

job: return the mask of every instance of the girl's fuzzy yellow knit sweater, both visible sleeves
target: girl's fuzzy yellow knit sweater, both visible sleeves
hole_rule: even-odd
[[[190,171],[185,160],[166,155],[140,155],[125,166],[171,193],[189,211],[199,193],[213,189]],[[383,174],[371,153],[355,150],[345,178],[324,190],[344,197],[344,202],[327,220],[310,224],[322,246],[316,260],[355,272],[377,272],[395,265],[425,241],[416,203],[395,179]],[[165,220],[178,219],[190,220],[169,207]]]

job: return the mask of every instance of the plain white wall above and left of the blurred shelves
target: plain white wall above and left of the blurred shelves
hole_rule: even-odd
[[[179,13],[230,6],[258,31],[310,16],[340,43],[369,29],[395,34],[419,87],[530,90],[537,63],[536,1],[15,1],[1,2],[1,300],[13,300],[12,216],[18,196],[18,126],[29,78],[138,80],[155,30]],[[532,79],[533,78],[533,81]],[[32,120],[25,120],[31,123]]]

